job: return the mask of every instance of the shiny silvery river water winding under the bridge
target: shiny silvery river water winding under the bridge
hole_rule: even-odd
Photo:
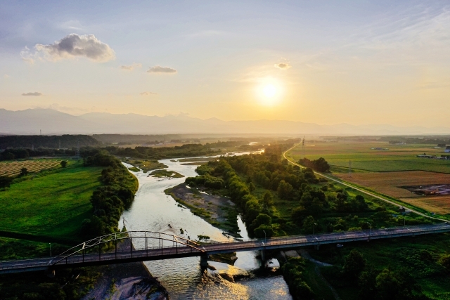
[[[240,153],[238,155],[242,155]],[[197,157],[195,157],[197,158]],[[197,176],[197,166],[183,165],[174,162],[177,159],[162,159],[160,162],[168,166],[168,171],[176,171],[186,177]],[[129,164],[124,164],[131,167]],[[148,177],[143,171],[132,172],[139,180],[139,190],[131,207],[124,211],[120,226],[124,222],[127,230],[148,230],[179,235],[197,240],[198,235],[207,235],[211,240],[225,241],[233,237],[225,237],[222,230],[210,225],[189,209],[177,206],[175,200],[165,195],[164,190],[184,183],[184,178]],[[245,224],[238,219],[240,235],[248,239]],[[180,233],[183,228],[184,234]],[[136,245],[135,245],[136,247]],[[281,275],[268,275],[271,272],[257,272],[261,262],[256,258],[257,252],[238,252],[235,266],[226,263],[209,261],[217,270],[200,270],[200,256],[165,261],[146,261],[144,264],[152,275],[167,289],[170,299],[292,299]],[[277,267],[274,259],[269,265]],[[247,275],[236,283],[222,279],[219,273],[229,275]],[[260,275],[264,274],[264,275]]]

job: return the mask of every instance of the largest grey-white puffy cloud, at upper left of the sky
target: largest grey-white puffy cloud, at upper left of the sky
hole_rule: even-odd
[[[36,44],[35,53],[30,53],[28,48],[20,53],[20,56],[27,63],[34,63],[34,58],[44,58],[46,60],[61,60],[65,58],[84,57],[97,63],[115,59],[113,49],[99,41],[94,34],[78,35],[69,34],[53,44]]]

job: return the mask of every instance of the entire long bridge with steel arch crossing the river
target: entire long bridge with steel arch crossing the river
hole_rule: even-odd
[[[369,241],[393,237],[416,237],[450,232],[450,223],[404,226],[376,230],[294,235],[255,240],[230,240],[200,244],[185,237],[153,231],[127,231],[103,235],[78,244],[51,258],[20,261],[0,261],[1,273],[19,273],[34,270],[57,270],[81,266],[98,266],[132,261],[153,261],[200,256],[200,265],[207,266],[208,254],[240,251],[289,249],[305,246],[319,248],[321,244]],[[264,253],[264,252],[263,252]]]

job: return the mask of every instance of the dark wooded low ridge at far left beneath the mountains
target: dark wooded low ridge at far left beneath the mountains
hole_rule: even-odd
[[[62,136],[0,136],[0,149],[8,148],[76,148],[80,147],[96,147],[101,145],[92,136],[86,135],[70,135]]]

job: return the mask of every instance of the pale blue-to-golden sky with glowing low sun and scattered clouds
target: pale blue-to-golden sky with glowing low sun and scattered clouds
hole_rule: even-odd
[[[449,1],[1,1],[0,108],[449,126]]]

